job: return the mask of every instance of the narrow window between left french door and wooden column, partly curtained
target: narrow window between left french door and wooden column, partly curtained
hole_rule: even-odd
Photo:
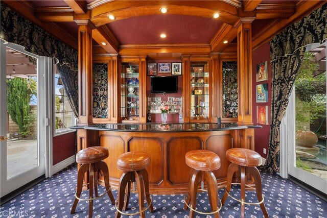
[[[75,116],[69,104],[65,88],[58,73],[55,74],[55,130],[56,133],[70,130],[75,125]]]

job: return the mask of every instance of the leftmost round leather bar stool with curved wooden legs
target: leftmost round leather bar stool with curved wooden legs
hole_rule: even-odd
[[[89,201],[88,206],[88,217],[92,217],[93,212],[93,201],[97,198],[104,196],[108,193],[112,205],[114,204],[114,198],[110,189],[109,183],[109,170],[107,164],[103,161],[109,156],[107,148],[104,147],[89,147],[79,151],[76,155],[76,162],[82,164],[77,173],[77,191],[75,193],[75,201],[72,207],[71,214],[75,213],[78,201]],[[106,187],[106,192],[98,195],[98,172],[102,172],[104,178],[104,184]],[[84,175],[88,174],[88,183],[83,185]],[[102,181],[101,181],[102,182]],[[83,186],[88,185],[89,188],[89,198],[81,199],[81,192]],[[93,195],[95,191],[95,197]]]

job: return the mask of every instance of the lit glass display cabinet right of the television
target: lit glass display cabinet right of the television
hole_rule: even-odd
[[[209,65],[207,62],[191,62],[191,120],[209,119]]]

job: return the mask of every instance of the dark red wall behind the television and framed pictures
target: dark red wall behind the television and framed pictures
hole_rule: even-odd
[[[149,63],[181,63],[180,60],[153,60],[153,61],[148,61]],[[182,65],[182,69],[183,69],[183,65]],[[170,74],[159,74],[157,73],[157,75],[155,76],[177,76],[177,75],[172,75]],[[182,96],[182,85],[183,85],[183,76],[182,75],[178,75],[178,93],[167,93],[165,94],[159,94],[159,93],[151,93],[151,81],[150,81],[150,77],[151,76],[147,76],[147,96],[148,97],[161,97],[161,101],[168,101],[168,97],[182,97],[184,98],[184,96]],[[169,114],[167,117],[167,123],[170,122],[178,122],[178,116],[179,114]],[[158,122],[161,123],[161,115],[160,114],[151,114],[151,120],[152,122]]]

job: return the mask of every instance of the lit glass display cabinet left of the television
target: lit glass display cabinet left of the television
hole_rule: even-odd
[[[139,121],[139,71],[137,63],[121,65],[121,116],[122,121]]]

